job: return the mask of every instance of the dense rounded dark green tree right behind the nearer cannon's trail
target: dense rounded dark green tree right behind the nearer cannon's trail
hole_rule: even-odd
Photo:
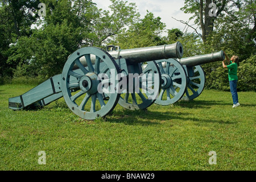
[[[35,31],[30,37],[22,36],[12,48],[8,61],[19,61],[23,74],[49,78],[61,73],[68,56],[79,48],[79,28],[61,24],[49,24]]]

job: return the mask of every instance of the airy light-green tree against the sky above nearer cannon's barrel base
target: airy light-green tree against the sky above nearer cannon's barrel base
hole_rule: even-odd
[[[127,4],[127,1],[110,0],[112,5],[110,11],[97,9],[93,7],[92,14],[92,32],[87,42],[90,46],[101,47],[108,43],[109,38],[125,32],[127,28],[137,22],[139,13],[135,3]]]

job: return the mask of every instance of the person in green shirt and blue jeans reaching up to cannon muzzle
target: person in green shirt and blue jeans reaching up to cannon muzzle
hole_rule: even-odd
[[[222,61],[222,66],[223,68],[227,68],[228,72],[229,72],[229,86],[230,86],[230,92],[232,94],[232,99],[233,99],[233,107],[237,107],[239,106],[239,102],[238,102],[238,94],[237,94],[237,63],[239,61],[239,57],[236,55],[233,55],[231,57],[231,59],[229,59],[229,57],[226,55],[225,51],[225,58]],[[229,65],[225,65],[225,60],[228,61],[230,64]]]

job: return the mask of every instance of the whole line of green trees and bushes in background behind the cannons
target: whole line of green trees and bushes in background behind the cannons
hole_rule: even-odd
[[[5,76],[47,79],[61,73],[67,57],[84,46],[127,49],[179,41],[183,57],[220,50],[238,55],[238,89],[255,90],[255,1],[184,0],[181,10],[192,14],[190,20],[202,34],[166,30],[161,18],[149,11],[141,18],[135,3],[109,1],[109,10],[102,10],[92,0],[0,0],[0,82]],[[209,16],[211,2],[216,16]],[[38,15],[39,3],[46,4],[44,17]],[[202,66],[207,88],[229,89],[221,62]]]

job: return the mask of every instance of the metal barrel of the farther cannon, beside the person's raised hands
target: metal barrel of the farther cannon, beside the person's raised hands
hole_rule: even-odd
[[[192,56],[192,57],[184,57],[180,59],[180,63],[186,65],[187,67],[193,67],[206,63],[213,63],[216,61],[223,61],[225,59],[225,55],[223,51],[209,53],[206,55]]]

